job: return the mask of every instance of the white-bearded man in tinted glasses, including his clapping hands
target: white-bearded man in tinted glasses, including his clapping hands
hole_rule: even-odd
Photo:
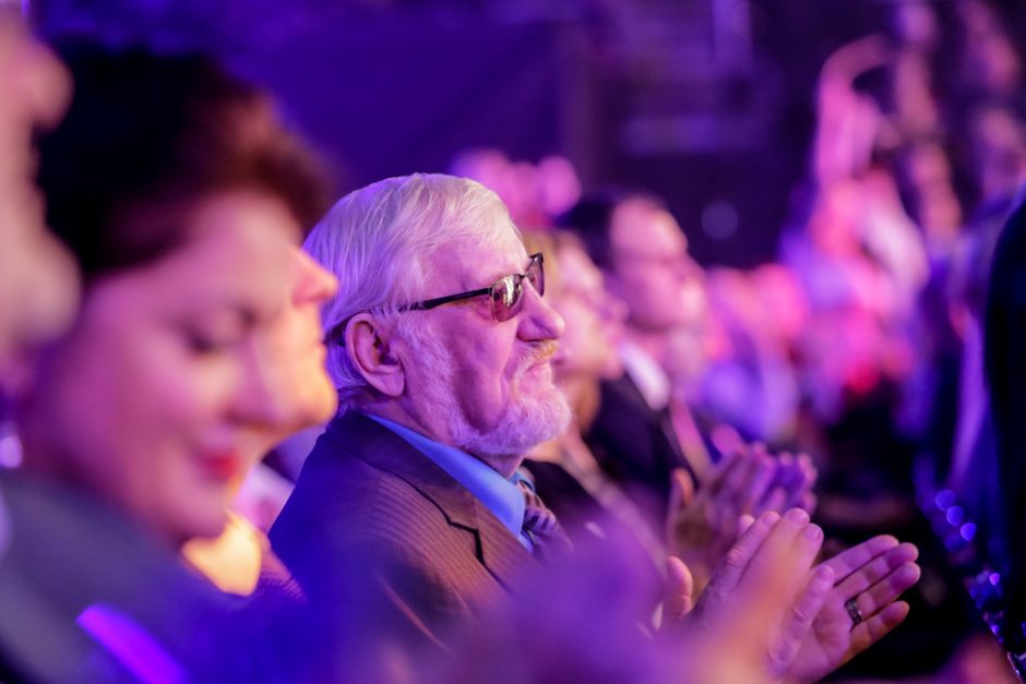
[[[563,322],[542,299],[544,260],[527,254],[493,193],[444,176],[389,179],[347,195],[306,248],[339,277],[325,325],[344,412],[307,459],[271,531],[274,549],[327,629],[357,619],[345,586],[356,554],[369,560],[399,619],[383,625],[393,651],[413,636],[463,653],[450,632],[461,626],[472,641],[501,644],[503,625],[490,619],[496,603],[508,596],[518,603],[524,583],[572,555],[554,516],[517,473],[523,454],[570,419],[551,377]],[[726,643],[725,625],[744,620],[731,597],[749,568],[750,586],[767,591],[754,602],[782,603],[757,626],[790,641],[772,647],[777,674],[825,674],[900,622],[907,605],[894,599],[918,568],[914,548],[880,538],[808,579],[821,535],[802,511],[763,516],[683,620],[690,577],[671,562],[667,622]],[[750,567],[767,537],[778,540],[770,557]],[[804,551],[783,552],[799,537]],[[590,563],[582,571],[590,573]],[[768,584],[754,579],[763,572]],[[772,578],[785,576],[804,590],[772,590]],[[791,610],[803,601],[812,603]],[[610,607],[608,615],[618,614]],[[765,641],[756,639],[757,649]],[[578,645],[585,659],[589,645]],[[527,657],[542,658],[530,649]],[[449,664],[473,670],[478,660]]]

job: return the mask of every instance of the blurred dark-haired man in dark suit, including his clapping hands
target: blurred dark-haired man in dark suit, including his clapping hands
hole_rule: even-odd
[[[700,440],[687,443],[701,453],[681,448],[675,423],[694,423],[687,405],[673,400],[664,368],[676,349],[672,332],[693,315],[701,297],[700,269],[688,254],[684,233],[657,199],[590,195],[561,224],[581,238],[607,289],[628,305],[619,345],[625,373],[601,382],[585,443],[659,537],[671,492],[683,491],[687,515],[678,516],[681,527],[672,531],[687,540],[684,561],[701,590],[733,543],[741,515],[809,505],[814,469],[807,459],[778,460],[749,447],[713,466]],[[675,473],[680,469],[690,478]]]

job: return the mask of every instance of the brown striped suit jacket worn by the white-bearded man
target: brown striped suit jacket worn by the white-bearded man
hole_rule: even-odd
[[[318,440],[271,542],[331,631],[391,640],[444,644],[536,565],[462,484],[354,411]]]

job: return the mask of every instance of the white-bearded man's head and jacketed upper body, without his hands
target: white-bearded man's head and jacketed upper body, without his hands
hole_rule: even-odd
[[[568,548],[516,472],[570,420],[549,365],[563,322],[541,259],[473,181],[374,183],[306,249],[339,276],[324,325],[342,411],[272,543],[314,600],[362,549],[396,571],[390,596],[433,638]]]

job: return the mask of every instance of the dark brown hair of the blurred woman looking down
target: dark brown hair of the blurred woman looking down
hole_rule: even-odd
[[[81,44],[59,52],[74,97],[40,142],[39,184],[86,286],[174,250],[188,238],[181,212],[218,192],[278,197],[305,228],[326,208],[318,160],[266,95],[212,60]]]

